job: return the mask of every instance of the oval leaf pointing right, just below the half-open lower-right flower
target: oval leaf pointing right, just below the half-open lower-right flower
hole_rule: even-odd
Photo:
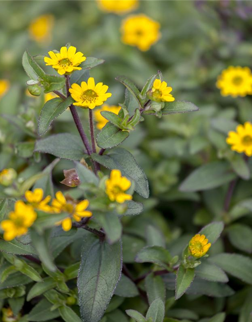
[[[195,275],[203,280],[227,283],[228,277],[224,271],[216,265],[203,262],[195,269]]]

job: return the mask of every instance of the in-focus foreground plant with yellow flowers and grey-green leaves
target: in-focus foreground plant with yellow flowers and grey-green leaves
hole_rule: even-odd
[[[120,305],[118,298],[141,296],[149,306],[145,304],[146,316],[132,309],[127,310],[128,315],[138,321],[161,322],[165,306],[166,309],[169,306],[165,288],[175,289],[175,299],[178,299],[184,292],[202,285],[211,284],[213,289],[218,289],[219,283],[228,281],[221,268],[207,259],[207,252],[219,237],[223,224],[209,224],[191,236],[191,241],[187,240],[184,250],[177,249],[175,254],[167,250],[159,231],[149,229],[148,246],[140,248],[135,259],[137,263],[149,263],[148,270],[143,275],[132,276],[123,263],[121,221],[124,216],[143,211],[142,203],[133,201],[132,195],[135,190],[148,198],[149,187],[134,156],[117,145],[130,134],[134,135],[145,114],[162,117],[198,108],[192,103],[175,101],[161,72],[151,76],[142,91],[127,77],[119,76],[117,81],[126,87],[125,101],[118,113],[101,112],[108,122],[95,137],[92,110],[111,94],[107,93],[107,86],[96,84],[89,77],[89,69],[103,60],[86,58],[76,53],[73,46],[62,47],[60,53],[51,51],[49,55],[44,61],[60,76],[46,74],[36,57],[28,52],[23,56],[24,69],[31,78],[27,82],[30,93],[53,92],[58,96],[41,109],[38,134],[46,134],[52,122],[70,108],[80,136],[60,133],[37,138],[29,132],[36,138],[31,146],[36,157],[39,153],[49,153],[71,160],[73,168],[65,170],[62,183],[75,189],[68,190],[66,195],[57,191],[54,196],[51,172],[58,158],[42,174],[22,183],[16,180],[16,173],[11,169],[2,174],[3,182],[9,187],[6,192],[18,201],[14,201],[15,207],[8,200],[1,203],[5,239],[1,240],[1,249],[6,252],[1,258],[1,296],[8,299],[18,320],[25,301],[24,289],[19,285],[27,285],[26,300],[32,307],[19,320],[39,320],[36,314],[43,311],[43,320],[61,316],[67,322],[99,321],[105,311],[105,316],[109,316],[109,307]],[[85,114],[87,109],[90,139],[78,114]],[[105,168],[111,170],[109,175],[104,174]],[[57,257],[69,245],[74,261],[58,267]],[[225,290],[230,292],[228,286]]]

